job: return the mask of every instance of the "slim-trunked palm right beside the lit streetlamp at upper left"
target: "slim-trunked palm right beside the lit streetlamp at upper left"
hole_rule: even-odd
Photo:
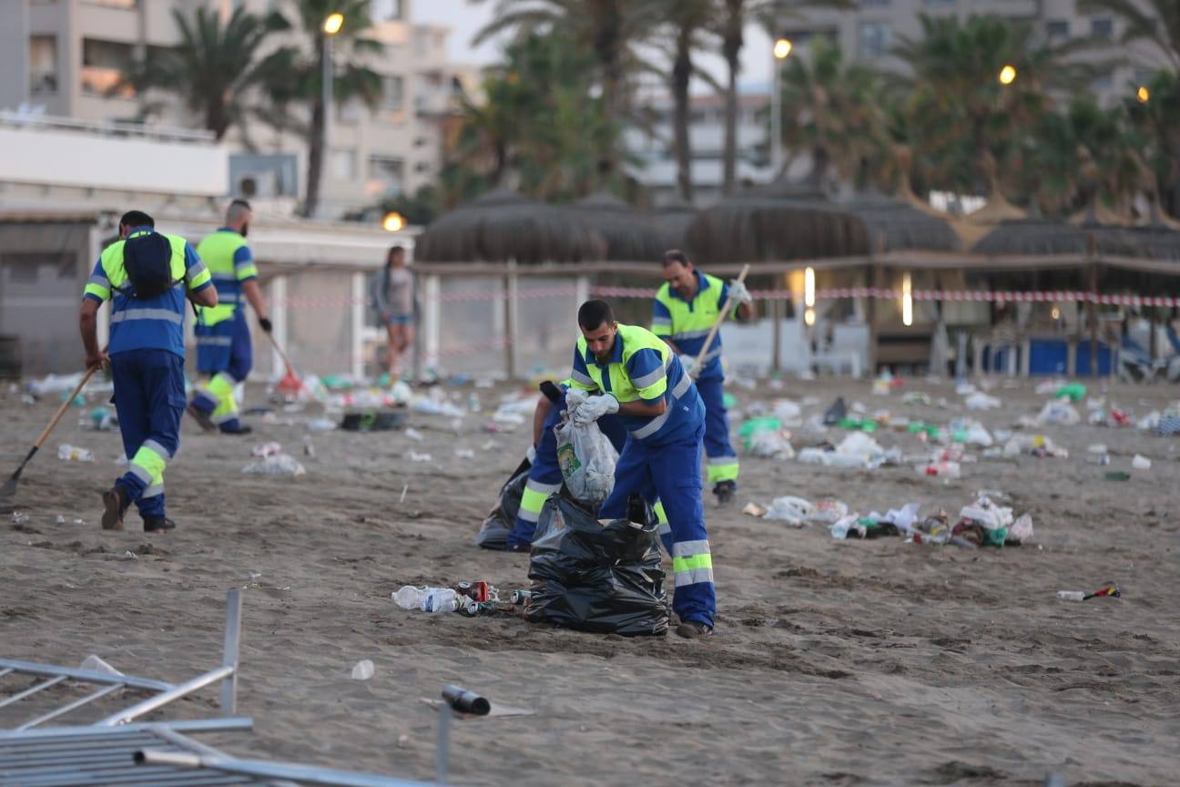
[[[276,107],[275,125],[291,126],[287,107],[294,103],[310,107],[310,124],[306,127],[308,140],[307,194],[302,215],[315,215],[320,203],[320,178],[323,172],[323,137],[326,107],[323,105],[323,21],[333,13],[343,14],[340,32],[332,37],[332,50],[343,55],[343,64],[334,58],[332,90],[341,103],[361,99],[373,109],[384,88],[381,76],[363,65],[367,54],[379,54],[384,46],[365,32],[373,26],[368,0],[295,0],[289,4],[294,21],[282,11],[270,15],[274,29],[290,31],[302,39],[301,44],[283,46],[273,52],[261,65],[260,73],[266,90]],[[308,51],[310,50],[310,51]]]

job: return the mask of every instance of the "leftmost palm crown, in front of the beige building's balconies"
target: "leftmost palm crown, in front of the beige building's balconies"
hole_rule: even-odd
[[[219,14],[204,7],[191,18],[173,8],[172,19],[181,32],[179,45],[148,50],[109,93],[129,86],[139,96],[152,88],[177,93],[219,140],[231,126],[244,125],[244,98],[262,77],[255,54],[273,27],[242,7],[234,9],[224,25]]]

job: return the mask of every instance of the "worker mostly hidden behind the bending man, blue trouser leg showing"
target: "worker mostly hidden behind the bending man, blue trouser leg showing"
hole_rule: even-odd
[[[542,395],[532,415],[532,445],[527,453],[531,464],[529,480],[525,481],[524,493],[520,496],[516,526],[509,533],[510,552],[529,551],[545,500],[562,488],[562,467],[557,461],[557,437],[553,429],[562,422],[562,413],[566,409],[565,393],[570,388],[570,381],[566,380],[560,385],[545,381],[540,387]],[[603,415],[598,419],[598,428],[615,446],[615,451],[622,453],[627,444],[627,426],[622,419],[618,415]],[[656,501],[653,507],[660,522],[660,538],[666,542],[664,546],[671,553],[671,531],[663,505]]]

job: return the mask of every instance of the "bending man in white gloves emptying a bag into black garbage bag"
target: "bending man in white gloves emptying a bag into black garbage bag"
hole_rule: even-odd
[[[629,432],[615,466],[615,488],[598,516],[625,517],[632,492],[653,505],[658,497],[671,529],[676,634],[712,635],[716,596],[701,503],[701,396],[671,348],[647,328],[616,322],[605,301],[583,303],[578,327],[582,336],[566,394],[570,418],[591,424],[618,413]]]

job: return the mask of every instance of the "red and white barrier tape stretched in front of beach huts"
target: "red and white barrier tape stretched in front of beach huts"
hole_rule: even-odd
[[[651,299],[656,290],[643,287],[595,287],[591,294],[599,297],[617,299]],[[577,295],[577,289],[572,287],[538,287],[522,289],[517,291],[520,300],[537,297],[566,297]],[[791,290],[750,290],[750,295],[758,301],[789,301],[798,299],[798,293]],[[479,301],[503,301],[507,297],[504,290],[471,290],[460,293],[444,293],[439,296],[440,303],[473,303]],[[902,300],[902,290],[884,289],[879,287],[841,287],[815,290],[817,301],[833,301],[846,297],[872,297],[889,301]],[[1145,295],[1102,295],[1099,293],[1082,291],[1057,291],[1057,293],[1021,293],[1021,291],[990,291],[990,290],[913,290],[911,297],[914,301],[945,301],[945,302],[995,302],[995,303],[1101,303],[1104,306],[1149,306],[1149,307],[1180,307],[1180,299],[1159,297]],[[321,308],[340,307],[353,304],[367,304],[366,297],[288,297],[275,301],[276,306],[291,306],[297,308]]]

